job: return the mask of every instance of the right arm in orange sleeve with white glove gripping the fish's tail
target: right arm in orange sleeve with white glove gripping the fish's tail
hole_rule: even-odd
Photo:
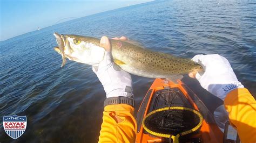
[[[201,86],[224,101],[230,123],[237,128],[241,142],[256,142],[256,103],[235,76],[223,56],[196,55],[192,59],[204,67],[203,73],[191,73]]]

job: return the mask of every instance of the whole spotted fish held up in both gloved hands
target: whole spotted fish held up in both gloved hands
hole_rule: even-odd
[[[58,47],[55,51],[71,61],[98,66],[104,59],[105,49],[100,47],[100,39],[74,34],[54,33]],[[191,59],[137,46],[126,40],[110,40],[112,59],[121,69],[130,74],[149,78],[181,79],[184,74],[204,71]],[[64,57],[64,58],[63,58]]]

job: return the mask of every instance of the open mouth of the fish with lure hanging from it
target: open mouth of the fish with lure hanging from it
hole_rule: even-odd
[[[56,38],[58,47],[55,47],[55,51],[58,52],[60,55],[62,55],[62,66],[65,66],[66,63],[66,56],[65,56],[65,36],[64,35],[60,35],[57,32],[53,33],[53,35]]]

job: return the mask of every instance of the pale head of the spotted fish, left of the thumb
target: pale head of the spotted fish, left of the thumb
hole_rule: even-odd
[[[58,44],[55,51],[64,58],[92,66],[98,66],[104,59],[105,49],[99,46],[99,39],[58,33],[53,35]]]

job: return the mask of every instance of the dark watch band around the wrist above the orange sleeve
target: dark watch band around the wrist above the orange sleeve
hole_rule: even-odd
[[[128,105],[134,106],[134,100],[133,98],[118,96],[118,97],[106,98],[104,101],[104,107],[107,105],[113,105],[113,104],[128,104]]]

